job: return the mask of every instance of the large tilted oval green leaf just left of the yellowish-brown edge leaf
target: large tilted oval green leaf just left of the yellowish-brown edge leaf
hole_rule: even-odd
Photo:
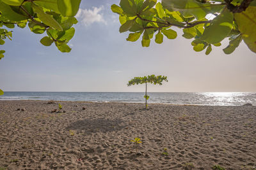
[[[233,13],[223,10],[218,17],[212,20],[211,25],[205,28],[200,39],[210,44],[219,43],[226,38],[233,27]]]

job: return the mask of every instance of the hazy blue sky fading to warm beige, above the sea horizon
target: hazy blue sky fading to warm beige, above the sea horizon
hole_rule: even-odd
[[[195,52],[191,41],[164,38],[150,47],[126,41],[119,33],[118,15],[110,10],[114,0],[83,0],[77,13],[76,34],[70,53],[43,46],[45,34],[29,28],[13,29],[13,40],[0,46],[0,89],[39,92],[143,92],[144,85],[127,87],[134,76],[164,75],[168,82],[149,85],[149,92],[256,92],[256,54],[241,45],[230,55],[213,47],[210,55]]]

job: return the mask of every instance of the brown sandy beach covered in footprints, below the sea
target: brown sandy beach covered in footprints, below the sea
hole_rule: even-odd
[[[256,167],[256,106],[47,103],[0,101],[0,169]]]

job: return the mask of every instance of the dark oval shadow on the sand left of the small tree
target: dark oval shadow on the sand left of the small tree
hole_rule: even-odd
[[[109,120],[104,118],[97,118],[95,120],[84,119],[66,127],[67,130],[84,131],[86,134],[92,134],[95,132],[113,132],[124,129],[124,121],[121,119]]]

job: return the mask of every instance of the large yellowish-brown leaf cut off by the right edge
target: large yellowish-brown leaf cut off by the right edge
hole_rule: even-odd
[[[235,13],[238,30],[243,34],[244,43],[256,53],[256,6],[248,6],[246,11]]]

